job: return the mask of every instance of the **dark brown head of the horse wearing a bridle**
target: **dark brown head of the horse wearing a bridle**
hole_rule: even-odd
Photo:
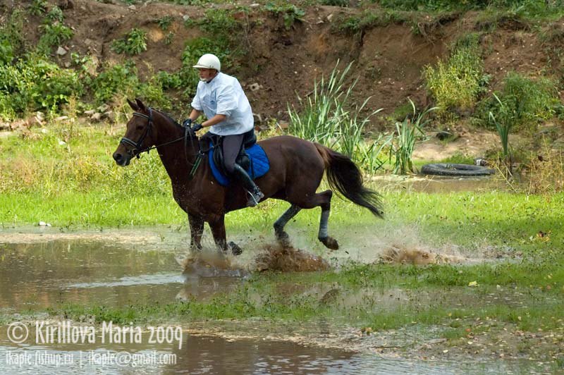
[[[145,107],[140,99],[135,99],[135,103],[128,99],[128,103],[135,112],[114,152],[114,160],[118,166],[128,166],[133,157],[139,157],[141,152],[154,145],[153,110]]]

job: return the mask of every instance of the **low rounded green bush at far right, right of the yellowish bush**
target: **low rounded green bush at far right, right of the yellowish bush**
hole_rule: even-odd
[[[501,92],[482,103],[482,118],[491,125],[511,122],[519,128],[534,128],[541,120],[555,116],[559,104],[556,85],[548,78],[527,78],[508,73]],[[495,121],[491,119],[492,113]]]

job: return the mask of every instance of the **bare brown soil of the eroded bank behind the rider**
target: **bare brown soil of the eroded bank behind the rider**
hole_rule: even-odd
[[[114,39],[137,27],[147,32],[148,48],[131,59],[145,76],[159,70],[178,70],[185,43],[202,35],[197,27],[186,27],[184,20],[202,18],[204,11],[214,7],[213,4],[178,6],[150,2],[125,6],[94,0],[49,2],[63,8],[65,23],[75,32],[73,39],[63,46],[69,53],[55,57],[62,66],[71,62],[70,52],[90,54],[97,69],[105,63],[129,59],[111,51],[110,45]],[[23,1],[23,4],[30,4],[30,1]],[[238,4],[250,6],[251,2]],[[4,6],[4,11],[11,6],[13,3]],[[297,102],[296,94],[303,97],[310,92],[314,80],[329,73],[337,61],[341,66],[355,61],[349,77],[350,82],[359,78],[353,98],[362,103],[370,97],[367,111],[383,108],[382,113],[389,115],[398,106],[405,105],[407,98],[414,100],[419,108],[430,105],[422,85],[422,68],[445,57],[460,36],[489,27],[476,13],[469,12],[423,20],[419,22],[422,30],[419,34],[412,31],[411,25],[399,23],[350,35],[336,31],[338,23],[343,17],[359,16],[363,9],[312,6],[306,9],[303,22],[295,22],[290,30],[283,27],[280,18],[265,11],[264,6],[250,9],[248,15],[237,13],[247,26],[240,44],[248,53],[238,58],[237,69],[226,73],[237,75],[247,87],[253,111],[263,120],[286,119],[286,104]],[[164,16],[173,18],[166,32],[157,23]],[[41,18],[30,16],[27,21],[25,37],[36,43]],[[482,37],[484,68],[491,75],[491,89],[496,89],[510,70],[532,76],[563,73],[557,56],[564,47],[564,39],[559,37],[563,27],[560,22],[550,23],[539,34],[517,21],[502,20],[493,32],[485,34]],[[171,44],[164,43],[168,32],[173,33]],[[250,90],[252,84],[258,84],[255,87],[259,89]],[[188,100],[186,103],[188,105]]]

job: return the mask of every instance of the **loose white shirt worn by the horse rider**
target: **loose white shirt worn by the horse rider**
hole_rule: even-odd
[[[192,108],[203,111],[207,118],[218,114],[226,116],[224,121],[209,129],[217,135],[243,134],[255,126],[243,87],[237,78],[221,72],[210,82],[198,83]]]

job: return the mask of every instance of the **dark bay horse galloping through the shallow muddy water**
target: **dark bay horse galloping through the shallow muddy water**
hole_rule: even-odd
[[[237,245],[226,242],[224,219],[227,212],[246,207],[243,187],[238,183],[223,187],[216,182],[207,158],[197,158],[201,149],[190,128],[178,125],[139,99],[135,99],[135,103],[128,100],[128,103],[135,112],[114,152],[116,163],[127,166],[141,152],[156,148],[171,178],[174,200],[188,214],[191,250],[202,248],[204,222],[207,222],[219,250],[225,252],[231,247],[234,254],[240,253]],[[301,209],[321,207],[318,238],[329,249],[338,249],[338,242],[328,230],[333,192],[316,192],[324,173],[333,190],[369,209],[375,216],[382,216],[378,193],[362,185],[360,170],[347,156],[288,135],[262,140],[259,145],[270,161],[269,172],[256,179],[264,192],[262,200],[275,198],[290,203],[290,208],[274,223],[276,238],[284,245],[288,244],[286,223]],[[200,165],[195,168],[195,164]]]

